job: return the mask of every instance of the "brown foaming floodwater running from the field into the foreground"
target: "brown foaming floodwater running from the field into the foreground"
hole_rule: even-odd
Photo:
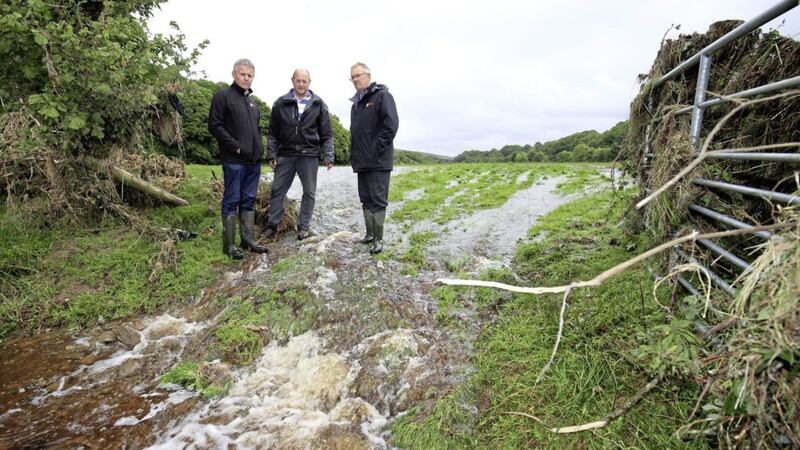
[[[296,184],[290,196],[299,198]],[[545,181],[448,224],[446,244],[432,254],[507,260],[529,223],[565,201],[554,186]],[[404,245],[398,229],[387,224],[389,245]],[[0,448],[390,448],[398,414],[464,379],[479,327],[466,336],[439,329],[428,292],[440,274],[401,276],[399,263],[354,244],[361,209],[348,169],[320,172],[312,230],[302,242],[279,236],[268,255],[249,256],[180,309],[8,342],[0,348]],[[272,266],[292,255],[309,261],[294,277],[302,279],[274,279]],[[273,340],[254,363],[231,369],[222,398],[159,383],[175,363],[207,354],[223,312],[215,299],[287,282],[319,305],[310,331]]]

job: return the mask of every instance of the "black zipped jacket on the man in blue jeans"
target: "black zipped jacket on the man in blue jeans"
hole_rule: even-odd
[[[219,157],[224,163],[258,163],[264,152],[258,120],[261,112],[236,83],[214,94],[208,112],[208,131],[219,142]],[[239,149],[239,153],[236,153]]]

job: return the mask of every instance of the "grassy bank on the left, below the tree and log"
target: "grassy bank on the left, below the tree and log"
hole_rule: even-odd
[[[150,313],[184,302],[238,264],[220,251],[212,170],[221,176],[217,166],[187,167],[176,192],[189,206],[139,210],[157,226],[197,233],[177,242],[177,264],[156,276],[151,258],[161,242],[118,221],[75,226],[45,223],[30,209],[0,210],[0,339]]]

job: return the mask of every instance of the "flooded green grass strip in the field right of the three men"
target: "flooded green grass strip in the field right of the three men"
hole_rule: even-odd
[[[545,178],[565,177],[570,193],[597,173],[590,164],[444,164],[425,166],[393,177],[389,201],[415,193],[392,213],[392,219],[445,224],[463,215],[504,204],[515,192]],[[575,179],[572,182],[570,180]],[[593,182],[593,181],[592,181]]]

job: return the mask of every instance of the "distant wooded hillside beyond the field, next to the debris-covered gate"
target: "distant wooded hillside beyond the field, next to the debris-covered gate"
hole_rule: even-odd
[[[613,161],[622,139],[628,131],[628,121],[598,133],[580,131],[569,136],[533,145],[506,145],[489,151],[468,150],[453,158],[454,162],[528,162],[528,161]]]

